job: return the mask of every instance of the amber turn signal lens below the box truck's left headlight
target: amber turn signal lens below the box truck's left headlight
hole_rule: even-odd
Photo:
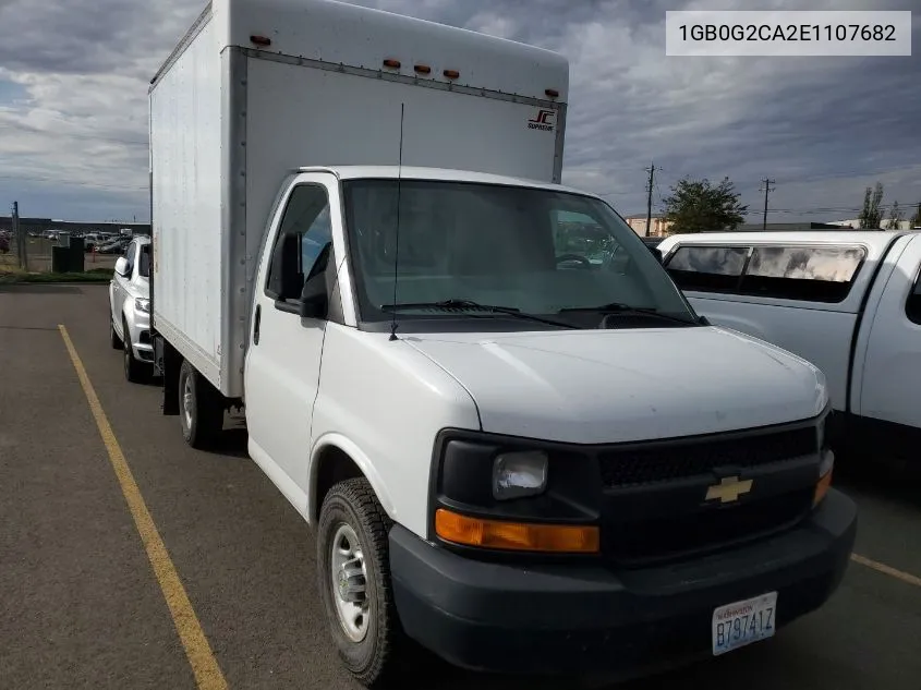
[[[444,508],[435,511],[435,533],[464,546],[556,554],[596,554],[601,541],[596,526],[483,520]]]

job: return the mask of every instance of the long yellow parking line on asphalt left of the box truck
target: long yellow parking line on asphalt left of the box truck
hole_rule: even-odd
[[[102,437],[102,443],[109,453],[109,460],[121,485],[124,499],[128,501],[131,516],[134,518],[134,524],[141,534],[141,540],[144,542],[147,557],[154,567],[154,574],[157,577],[157,582],[159,582],[163,597],[167,600],[167,606],[169,606],[175,631],[179,633],[180,640],[182,640],[182,646],[185,647],[185,654],[189,657],[189,663],[192,665],[192,673],[195,674],[198,688],[202,690],[225,690],[227,688],[227,680],[220,670],[220,666],[218,666],[210,644],[208,644],[208,639],[202,630],[198,617],[192,608],[192,603],[189,601],[185,588],[182,586],[182,581],[179,579],[175,566],[169,557],[163,540],[160,537],[159,532],[157,532],[157,525],[154,524],[154,519],[147,510],[147,505],[144,503],[141,489],[137,488],[137,483],[134,481],[131,469],[128,467],[128,461],[124,458],[121,446],[119,446],[109,420],[102,411],[102,405],[99,403],[96,390],[89,382],[86,368],[76,353],[68,329],[63,325],[59,325],[58,329],[61,331],[64,346],[66,346],[68,352],[71,355],[71,362],[73,362],[73,366],[76,370],[83,392],[86,394],[89,410],[96,419],[99,435]]]

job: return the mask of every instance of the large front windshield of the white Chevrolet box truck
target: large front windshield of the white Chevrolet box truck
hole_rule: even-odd
[[[395,308],[401,322],[457,318],[458,307],[439,316],[425,305],[463,300],[592,327],[615,304],[695,323],[655,256],[598,199],[403,180],[395,296],[397,181],[347,181],[344,195],[363,320],[389,320]]]

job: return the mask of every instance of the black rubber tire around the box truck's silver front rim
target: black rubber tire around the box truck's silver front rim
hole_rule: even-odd
[[[340,526],[358,535],[365,569],[367,630],[353,641],[340,622],[332,581],[332,547]],[[329,631],[339,658],[360,683],[378,688],[397,671],[397,647],[403,644],[390,583],[388,532],[392,522],[364,477],[336,484],[323,501],[317,524],[317,580]]]

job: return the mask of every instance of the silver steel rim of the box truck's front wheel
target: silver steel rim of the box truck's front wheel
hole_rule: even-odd
[[[344,523],[336,530],[330,549],[332,600],[339,625],[352,642],[361,642],[368,624],[364,552],[355,531]]]

